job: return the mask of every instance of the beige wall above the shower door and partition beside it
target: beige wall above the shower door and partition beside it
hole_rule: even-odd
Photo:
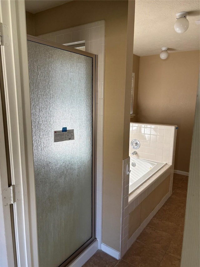
[[[34,14],[35,35],[106,21],[102,241],[117,251],[120,251],[122,160],[128,157],[129,149],[135,1],[129,4],[132,5],[129,19],[128,1],[72,1]]]

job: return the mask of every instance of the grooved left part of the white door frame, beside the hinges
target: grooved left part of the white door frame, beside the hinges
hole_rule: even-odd
[[[12,184],[20,184],[22,197],[13,204],[17,266],[31,266],[20,54],[22,35],[26,35],[25,3],[24,1],[1,1],[0,9],[2,22],[8,26],[10,38],[10,45],[3,46],[1,52],[11,179]],[[26,51],[23,53],[26,54]],[[27,67],[28,65],[24,65],[24,68]]]

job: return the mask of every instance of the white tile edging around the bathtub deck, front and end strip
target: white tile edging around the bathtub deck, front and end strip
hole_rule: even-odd
[[[132,194],[128,194],[129,189],[129,174],[127,175],[127,165],[128,170],[130,168],[130,157],[123,160],[123,181],[122,181],[122,218],[121,218],[121,246],[120,246],[120,258],[127,252],[131,244],[141,233],[143,228],[148,224],[150,219],[156,214],[159,208],[165,203],[169,198],[170,194],[168,193],[165,198],[154,208],[154,210],[149,214],[135,231],[135,233],[130,237],[129,236],[129,214],[140,205],[140,203],[147,198],[147,196],[155,190],[167,177],[171,178],[172,165],[166,164],[158,170],[152,177],[150,177],[146,182],[144,182],[140,187],[138,187]],[[170,179],[171,182],[171,179]],[[135,222],[138,225],[137,222]]]

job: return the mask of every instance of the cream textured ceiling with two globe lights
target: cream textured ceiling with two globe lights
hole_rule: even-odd
[[[162,47],[170,52],[199,50],[200,1],[135,1],[133,53],[138,56],[160,54]],[[174,30],[176,13],[187,11],[189,28],[185,33]]]

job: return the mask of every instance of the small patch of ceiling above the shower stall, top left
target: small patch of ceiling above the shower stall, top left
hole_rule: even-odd
[[[70,0],[25,0],[25,5],[26,10],[34,14],[67,2],[70,2]]]

